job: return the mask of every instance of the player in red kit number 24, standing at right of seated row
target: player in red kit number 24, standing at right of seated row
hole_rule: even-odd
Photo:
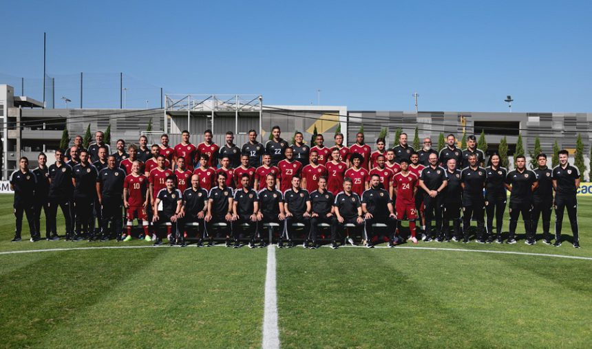
[[[415,220],[417,219],[417,209],[415,196],[419,187],[419,177],[409,170],[407,159],[401,159],[401,171],[392,177],[392,187],[394,188],[394,195],[397,196],[397,201],[394,202],[395,212],[397,213],[397,226],[400,227],[401,221],[407,218],[411,240],[416,244]]]

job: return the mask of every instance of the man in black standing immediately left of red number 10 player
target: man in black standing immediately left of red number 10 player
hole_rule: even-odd
[[[125,172],[116,166],[114,155],[107,158],[107,168],[98,172],[96,177],[96,194],[98,202],[101,204],[103,236],[102,241],[116,236],[121,240],[123,233],[121,210],[123,206],[123,182],[125,181]],[[109,223],[111,223],[109,225]],[[109,229],[110,228],[110,229]]]

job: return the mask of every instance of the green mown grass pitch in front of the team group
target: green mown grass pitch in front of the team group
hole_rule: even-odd
[[[589,348],[592,199],[580,198],[581,249],[406,244],[405,248],[278,249],[282,348]],[[508,222],[504,222],[507,230]],[[44,227],[44,223],[41,224]],[[518,232],[523,227],[518,224]],[[540,229],[540,225],[539,225]],[[63,234],[63,227],[59,228]],[[571,237],[567,214],[564,236]],[[12,196],[0,195],[0,347],[260,348],[265,249],[26,241]],[[416,248],[420,247],[420,248]]]

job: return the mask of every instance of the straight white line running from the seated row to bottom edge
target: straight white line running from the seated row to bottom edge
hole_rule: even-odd
[[[265,311],[263,314],[264,349],[279,348],[277,328],[277,288],[275,284],[275,245],[267,247],[267,273],[265,276]]]

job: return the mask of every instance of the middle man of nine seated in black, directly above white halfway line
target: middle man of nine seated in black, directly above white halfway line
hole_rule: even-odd
[[[271,160],[270,160],[271,161]],[[260,210],[258,212],[257,219],[259,220],[259,236],[261,238],[261,244],[259,247],[265,247],[263,224],[264,223],[283,223],[284,218],[284,196],[282,192],[277,190],[276,185],[277,179],[275,175],[268,173],[264,177],[265,188],[257,193],[260,201]],[[280,225],[283,230],[283,224]],[[269,241],[271,243],[271,241]]]

